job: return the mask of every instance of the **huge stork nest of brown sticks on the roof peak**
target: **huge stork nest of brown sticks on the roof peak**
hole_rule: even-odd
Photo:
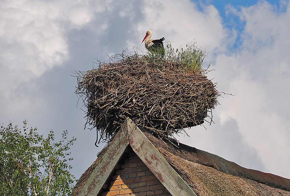
[[[203,123],[217,105],[219,93],[203,73],[168,59],[133,55],[79,71],[76,93],[98,142],[109,142],[127,117],[168,138]]]

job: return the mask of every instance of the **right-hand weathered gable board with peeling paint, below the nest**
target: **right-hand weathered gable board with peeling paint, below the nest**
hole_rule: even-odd
[[[153,172],[170,194],[173,196],[196,196],[192,189],[130,119],[128,120],[128,133],[129,143],[134,152],[146,164],[151,172]]]

